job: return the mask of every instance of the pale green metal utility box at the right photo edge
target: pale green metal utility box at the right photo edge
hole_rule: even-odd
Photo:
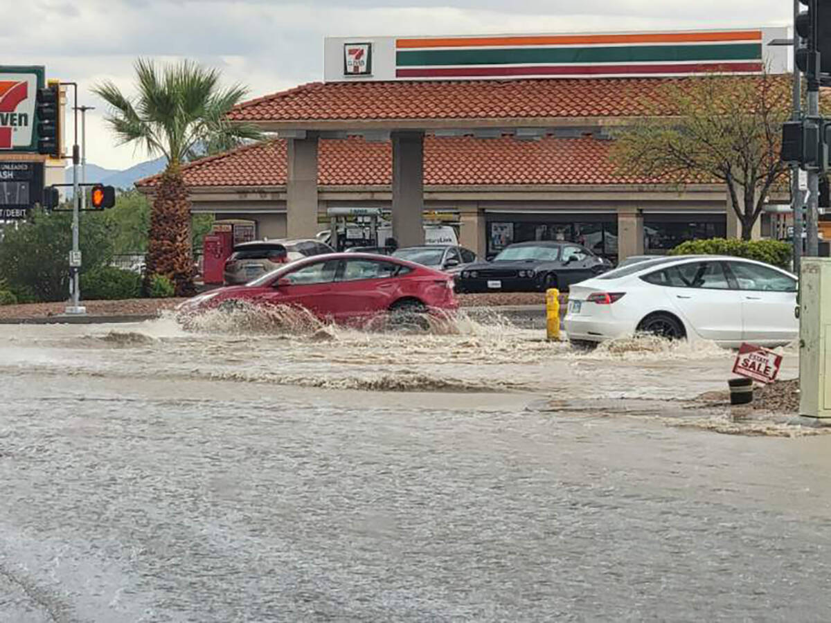
[[[799,414],[831,418],[831,258],[799,273]]]

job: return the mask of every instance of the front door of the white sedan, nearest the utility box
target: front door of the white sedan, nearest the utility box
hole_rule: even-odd
[[[727,262],[727,266],[741,293],[743,339],[760,346],[796,339],[796,279],[753,262]]]

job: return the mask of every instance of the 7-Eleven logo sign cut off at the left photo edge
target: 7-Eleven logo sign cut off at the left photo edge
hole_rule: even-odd
[[[37,151],[35,102],[43,67],[0,66],[0,150]]]

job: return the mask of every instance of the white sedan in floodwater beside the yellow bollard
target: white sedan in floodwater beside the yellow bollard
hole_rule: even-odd
[[[576,343],[637,332],[721,346],[779,346],[799,333],[797,279],[763,262],[655,258],[573,285],[564,326]]]

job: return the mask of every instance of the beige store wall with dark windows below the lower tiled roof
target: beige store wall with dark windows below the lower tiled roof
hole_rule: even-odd
[[[194,212],[217,218],[248,218],[258,223],[258,238],[283,238],[288,223],[280,189],[194,194]],[[323,187],[317,223],[327,228],[327,208],[391,208],[383,187]],[[481,257],[498,252],[496,241],[568,239],[585,243],[610,259],[666,253],[685,239],[735,232],[726,194],[720,187],[669,189],[541,188],[428,189],[425,211],[453,216],[460,243]],[[494,225],[494,223],[503,223]],[[494,231],[494,226],[496,231]]]

